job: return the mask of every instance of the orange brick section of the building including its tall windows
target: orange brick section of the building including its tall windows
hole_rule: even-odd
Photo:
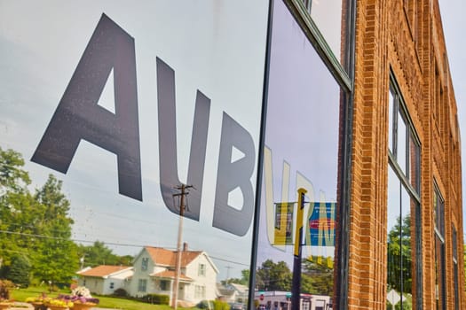
[[[413,309],[461,309],[461,137],[438,2],[357,7],[348,305],[384,309],[404,284]]]

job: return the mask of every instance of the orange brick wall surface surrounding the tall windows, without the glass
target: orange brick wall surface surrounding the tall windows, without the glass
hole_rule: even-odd
[[[357,3],[349,308],[385,310],[390,73],[421,142],[423,308],[435,308],[434,180],[445,198],[447,308],[454,309],[452,223],[458,231],[459,308],[466,308],[460,134],[438,2]]]

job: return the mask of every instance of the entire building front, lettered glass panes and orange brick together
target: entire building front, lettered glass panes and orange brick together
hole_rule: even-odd
[[[438,0],[48,4],[0,2],[4,267],[100,240],[137,255],[132,295],[170,294],[187,242],[178,301],[225,280],[249,309],[466,307]]]

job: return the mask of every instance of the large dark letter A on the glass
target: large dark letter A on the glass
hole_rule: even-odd
[[[115,114],[98,105],[112,69]],[[116,154],[119,192],[142,201],[134,39],[105,14],[31,160],[66,174],[82,139]]]

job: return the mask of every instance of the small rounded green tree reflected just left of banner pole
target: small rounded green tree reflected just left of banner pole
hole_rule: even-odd
[[[257,269],[256,284],[259,291],[290,291],[293,275],[287,263],[265,260]]]

